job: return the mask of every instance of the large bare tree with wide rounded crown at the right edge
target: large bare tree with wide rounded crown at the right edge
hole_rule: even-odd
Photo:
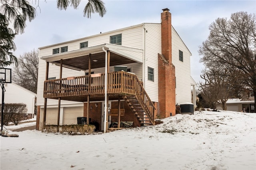
[[[241,88],[256,96],[256,15],[237,12],[230,20],[218,18],[209,26],[210,35],[199,47],[206,68],[229,65],[238,69]],[[254,108],[256,97],[254,97]],[[255,112],[255,110],[254,110]]]

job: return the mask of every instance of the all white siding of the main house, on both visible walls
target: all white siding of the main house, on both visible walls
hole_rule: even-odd
[[[52,49],[68,45],[68,51],[77,50],[81,42],[88,41],[88,47],[109,43],[110,36],[122,34],[122,45],[144,50],[143,63],[127,64],[128,68],[138,76],[138,79],[144,82],[144,88],[152,101],[158,102],[158,53],[161,53],[161,24],[140,24],[112,32],[98,34],[70,42],[59,43],[40,48],[40,57],[52,55]],[[145,40],[144,40],[145,38]],[[179,50],[183,51],[183,62],[179,61]],[[132,54],[132,52],[129,52]],[[190,51],[182,42],[177,32],[172,28],[172,63],[176,71],[176,103],[191,102],[190,87]],[[154,82],[148,81],[148,67],[154,69]],[[50,64],[49,77],[59,78],[60,67]],[[94,73],[104,73],[104,68],[93,69]],[[110,67],[110,71],[114,71]],[[44,105],[43,84],[45,80],[46,62],[39,61],[38,74],[38,105]],[[83,71],[63,69],[62,77],[84,75]],[[62,101],[64,104],[74,104],[71,101]],[[47,105],[56,105],[57,100],[48,99]]]

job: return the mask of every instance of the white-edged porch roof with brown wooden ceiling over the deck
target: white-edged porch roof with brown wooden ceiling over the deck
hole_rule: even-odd
[[[98,45],[94,47],[53,54],[42,57],[41,59],[56,65],[60,65],[62,59],[63,67],[85,71],[89,69],[89,56],[91,54],[91,69],[102,68],[105,67],[106,55],[102,49],[103,47],[105,50],[110,51],[110,66],[142,62],[143,50],[116,46],[112,44]],[[131,55],[126,51],[132,51],[133,53],[135,52],[137,55]]]

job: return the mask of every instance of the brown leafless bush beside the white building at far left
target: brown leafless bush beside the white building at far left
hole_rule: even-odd
[[[0,105],[0,107],[2,108],[2,105]],[[18,125],[27,111],[27,105],[24,103],[4,104],[3,125],[7,126],[10,122]],[[2,109],[0,113],[2,114]]]

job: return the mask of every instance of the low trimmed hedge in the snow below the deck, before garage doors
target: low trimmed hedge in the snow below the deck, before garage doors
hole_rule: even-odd
[[[45,125],[43,132],[68,132],[68,133],[93,133],[95,130],[94,125]]]

